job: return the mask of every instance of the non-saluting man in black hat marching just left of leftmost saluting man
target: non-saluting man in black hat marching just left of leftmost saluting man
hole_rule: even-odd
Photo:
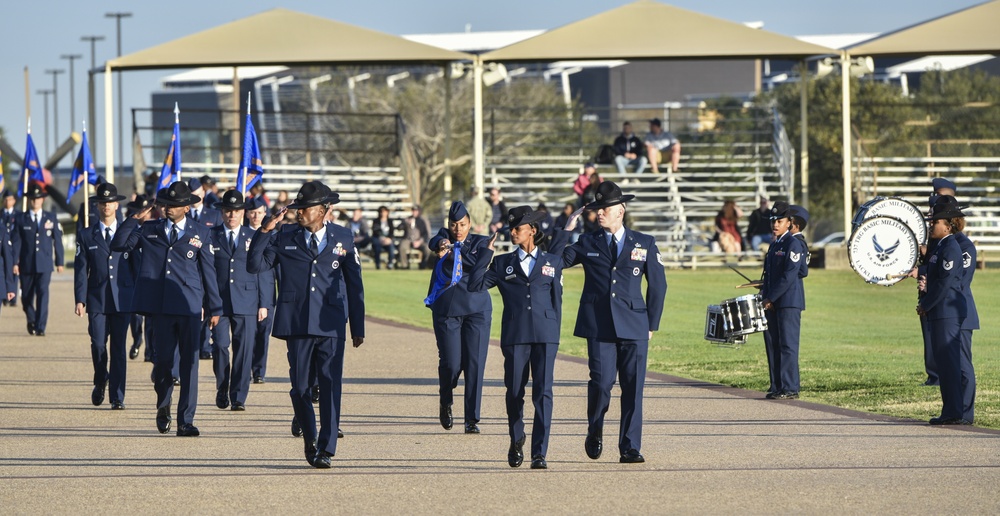
[[[88,319],[90,355],[94,362],[94,406],[104,403],[105,386],[111,409],[125,408],[126,338],[132,314],[135,275],[127,253],[111,250],[111,239],[118,231],[118,203],[125,197],[111,183],[97,185],[95,201],[97,220],[76,235],[76,258],[73,260],[73,285],[76,315]],[[108,353],[108,341],[111,353]],[[108,370],[108,362],[111,369]]]

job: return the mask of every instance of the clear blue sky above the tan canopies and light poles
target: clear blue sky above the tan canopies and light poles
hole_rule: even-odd
[[[317,16],[375,29],[390,34],[551,29],[629,3],[628,0],[33,0],[5,1],[0,7],[0,127],[18,152],[24,151],[25,94],[23,70],[30,68],[32,134],[43,156],[52,150],[45,144],[43,96],[39,89],[51,89],[47,69],[67,69],[64,54],[81,54],[75,63],[76,120],[70,123],[68,74],[58,75],[58,123],[60,140],[70,129],[79,131],[86,116],[86,68],[90,45],[84,35],[103,35],[97,44],[97,63],[116,55],[115,22],[105,18],[114,11],[132,12],[122,20],[122,51],[125,54],[164,43],[194,32],[237,20],[274,7],[283,7]],[[795,36],[886,32],[980,3],[978,0],[673,0],[677,7],[736,22],[760,21],[764,29]],[[669,31],[670,27],[664,27]],[[250,35],[248,35],[250,36]],[[648,38],[649,34],[622,35]],[[124,75],[126,123],[131,107],[148,107],[150,92],[158,89],[158,79],[177,70],[131,72]],[[103,117],[99,82],[97,113]],[[50,141],[53,111],[50,97]],[[98,124],[103,123],[97,120]],[[91,133],[95,131],[90,124]],[[103,125],[99,129],[103,146]],[[126,134],[127,136],[127,134]],[[128,138],[126,138],[128,140]],[[131,145],[126,146],[126,163],[131,162]],[[117,156],[117,152],[116,152]],[[103,151],[95,159],[104,162]],[[68,162],[64,162],[65,165]]]

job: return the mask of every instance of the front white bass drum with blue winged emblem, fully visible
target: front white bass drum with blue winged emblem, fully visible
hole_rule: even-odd
[[[858,224],[847,245],[851,268],[868,283],[890,286],[917,264],[920,246],[910,227],[895,217],[872,217]]]

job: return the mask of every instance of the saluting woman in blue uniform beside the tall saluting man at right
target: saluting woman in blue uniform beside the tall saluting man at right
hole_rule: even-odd
[[[482,292],[492,287],[503,297],[500,351],[503,353],[503,382],[507,388],[507,426],[510,449],[507,463],[516,468],[524,462],[524,387],[531,372],[531,402],[535,420],[531,429],[531,468],[546,469],[545,453],[552,424],[552,371],[559,349],[559,328],[562,319],[562,249],[567,232],[550,246],[549,253],[537,247],[544,238],[539,224],[544,212],[530,206],[518,206],[507,213],[504,221],[511,242],[518,246],[512,253],[493,258],[493,243],[497,235],[480,254],[479,262],[469,279],[470,292]],[[498,232],[499,233],[499,232]]]

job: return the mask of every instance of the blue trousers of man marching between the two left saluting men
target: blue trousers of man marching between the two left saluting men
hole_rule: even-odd
[[[246,403],[250,392],[250,360],[253,358],[253,335],[257,330],[256,315],[223,315],[215,326],[215,350],[212,368],[215,388],[228,389],[229,399]],[[230,367],[230,343],[232,367]]]

